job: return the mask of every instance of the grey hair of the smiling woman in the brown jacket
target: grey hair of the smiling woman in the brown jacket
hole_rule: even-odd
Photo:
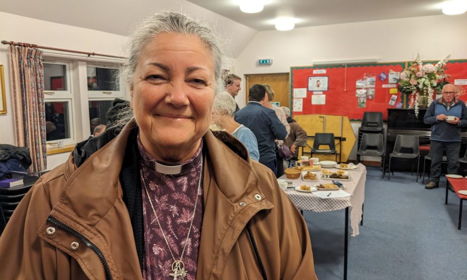
[[[224,89],[222,80],[222,60],[223,52],[221,46],[225,42],[221,35],[215,33],[207,24],[199,20],[188,17],[185,14],[175,11],[161,11],[147,17],[138,29],[130,36],[128,42],[128,62],[123,64],[119,74],[130,89],[133,89],[133,75],[138,65],[138,59],[143,48],[154,37],[161,33],[176,33],[183,35],[196,35],[211,51],[214,63],[215,88],[214,94],[217,95]],[[118,121],[114,126],[123,127],[127,122],[133,119],[133,112],[126,108],[119,112]]]

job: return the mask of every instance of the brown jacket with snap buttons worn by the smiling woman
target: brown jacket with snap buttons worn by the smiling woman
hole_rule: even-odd
[[[39,179],[0,238],[1,279],[103,280],[106,273],[142,279],[119,182],[128,131],[78,168],[70,156]],[[247,154],[230,135],[219,136]],[[245,161],[211,131],[204,140],[197,279],[262,279],[247,223],[267,279],[316,279],[307,225],[274,174],[249,157]]]

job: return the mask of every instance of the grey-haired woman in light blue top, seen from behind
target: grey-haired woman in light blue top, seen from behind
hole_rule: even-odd
[[[227,92],[219,93],[214,98],[213,123],[220,129],[232,134],[245,145],[251,159],[259,160],[258,142],[251,130],[233,120],[236,103]]]

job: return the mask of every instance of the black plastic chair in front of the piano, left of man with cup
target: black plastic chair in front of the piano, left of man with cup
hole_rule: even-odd
[[[418,136],[414,135],[398,135],[395,138],[394,149],[389,154],[389,170],[388,170],[388,180],[391,175],[391,161],[392,158],[403,158],[403,159],[417,159],[417,179],[418,183],[418,170],[420,168],[420,149]],[[411,164],[412,165],[412,164]],[[392,171],[394,172],[394,171]],[[413,175],[413,166],[412,166],[412,175]]]

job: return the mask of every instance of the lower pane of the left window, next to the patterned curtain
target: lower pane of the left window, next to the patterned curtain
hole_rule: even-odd
[[[45,102],[45,130],[47,141],[72,138],[69,101]]]

